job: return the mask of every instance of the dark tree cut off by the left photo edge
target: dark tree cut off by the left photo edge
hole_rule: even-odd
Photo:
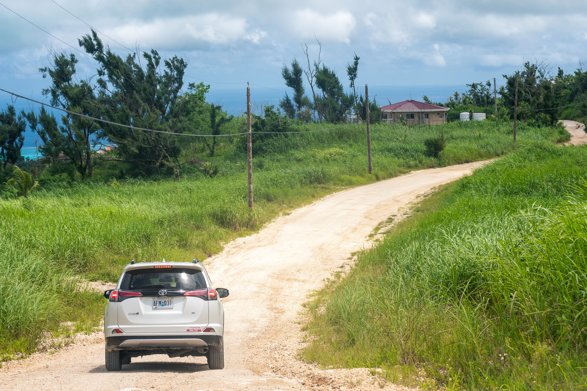
[[[0,111],[0,158],[2,166],[15,164],[21,158],[22,144],[25,141],[23,133],[26,130],[26,121],[22,115],[16,115],[14,106],[7,105],[6,111]]]

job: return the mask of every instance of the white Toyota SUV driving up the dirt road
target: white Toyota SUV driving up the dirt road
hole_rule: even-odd
[[[121,370],[132,357],[207,356],[210,369],[224,368],[225,288],[212,288],[204,265],[143,262],[124,267],[104,311],[106,370]]]

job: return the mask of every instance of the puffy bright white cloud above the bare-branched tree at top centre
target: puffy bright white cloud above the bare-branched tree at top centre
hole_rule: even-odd
[[[321,15],[311,9],[294,13],[291,28],[299,38],[318,38],[321,42],[350,43],[350,34],[356,26],[356,19],[348,11]]]

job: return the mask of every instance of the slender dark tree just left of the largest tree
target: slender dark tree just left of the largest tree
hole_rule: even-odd
[[[53,53],[53,66],[39,69],[43,79],[49,76],[52,80],[51,86],[43,89],[43,95],[50,96],[53,106],[96,117],[95,86],[87,80],[75,80],[76,64],[73,54]],[[23,116],[43,140],[39,149],[45,157],[52,160],[62,158],[62,155],[75,166],[82,178],[92,178],[92,137],[96,137],[100,130],[94,120],[66,113],[61,115],[59,124],[57,118],[44,108],[39,114],[23,111]]]

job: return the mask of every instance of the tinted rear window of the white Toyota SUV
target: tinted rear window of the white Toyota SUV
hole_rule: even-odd
[[[124,273],[120,289],[143,291],[153,289],[195,290],[206,287],[206,280],[200,270],[174,267],[172,270],[154,268],[134,269]]]

